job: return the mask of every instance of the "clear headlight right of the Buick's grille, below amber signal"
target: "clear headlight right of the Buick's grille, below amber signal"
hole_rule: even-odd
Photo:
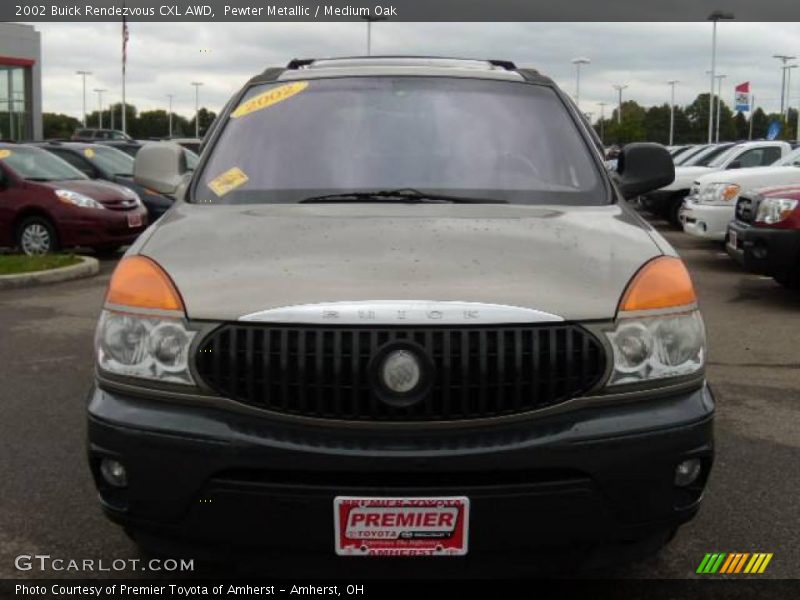
[[[697,310],[623,318],[606,336],[614,351],[608,385],[691,375],[705,362],[705,328]]]

